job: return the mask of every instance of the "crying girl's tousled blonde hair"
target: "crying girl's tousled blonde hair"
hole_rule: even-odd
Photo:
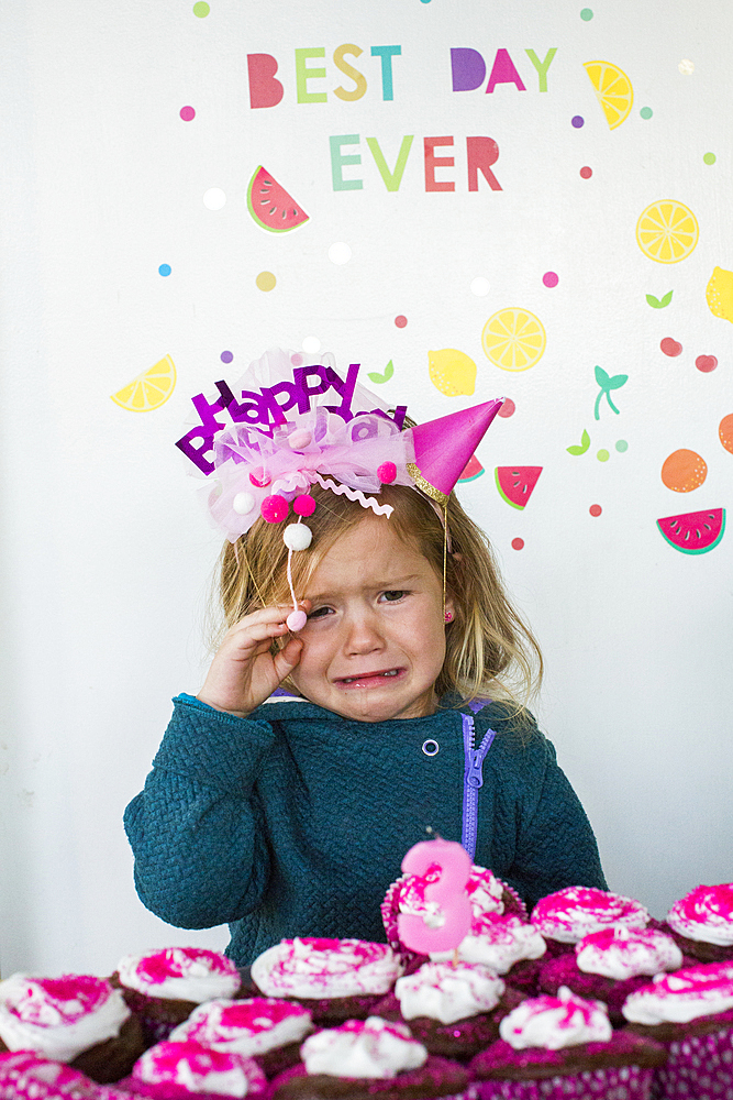
[[[311,495],[316,502],[308,519],[313,541],[309,550],[293,554],[296,593],[304,591],[335,541],[365,515],[371,515],[358,502],[318,485],[312,486]],[[477,697],[501,698],[522,712],[540,686],[542,654],[504,592],[484,531],[452,493],[447,505],[452,552],[445,556],[443,525],[426,497],[406,485],[384,485],[379,503],[395,509],[389,518],[379,517],[380,521],[391,524],[397,537],[422,554],[441,580],[445,562],[445,585],[454,600],[455,618],[446,628],[445,660],[435,682],[438,698],[453,694],[457,696],[453,705]],[[282,530],[282,524],[260,518],[236,542],[225,543],[219,595],[226,628],[259,607],[289,601]],[[274,648],[281,645],[277,640]]]

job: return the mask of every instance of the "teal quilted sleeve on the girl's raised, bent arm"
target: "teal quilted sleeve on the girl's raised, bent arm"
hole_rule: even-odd
[[[145,788],[124,814],[143,904],[168,924],[208,928],[259,902],[269,855],[255,781],[269,723],[179,695]]]

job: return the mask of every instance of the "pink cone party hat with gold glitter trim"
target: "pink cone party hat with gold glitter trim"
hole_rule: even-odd
[[[412,428],[415,460],[408,470],[418,488],[441,504],[447,499],[503,400],[497,397]]]

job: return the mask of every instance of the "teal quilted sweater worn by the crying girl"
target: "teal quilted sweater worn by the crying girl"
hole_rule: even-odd
[[[238,966],[295,935],[385,939],[379,903],[425,828],[460,840],[462,713],[349,722],[308,702],[249,718],[188,695],[125,811],[143,903],[169,924],[229,922]],[[468,713],[468,712],[467,712]],[[582,806],[534,728],[475,717],[484,762],[475,862],[532,906],[567,886],[607,889]],[[423,745],[438,749],[427,756]],[[427,746],[434,751],[434,746]]]

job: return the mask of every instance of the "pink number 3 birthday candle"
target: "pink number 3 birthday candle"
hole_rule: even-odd
[[[425,887],[425,901],[435,902],[444,917],[437,928],[431,928],[415,913],[400,913],[397,930],[400,939],[413,952],[449,952],[458,946],[470,932],[471,909],[466,883],[471,870],[471,858],[455,840],[422,840],[415,844],[402,860],[406,875],[425,875],[431,867],[438,867],[441,877]]]

